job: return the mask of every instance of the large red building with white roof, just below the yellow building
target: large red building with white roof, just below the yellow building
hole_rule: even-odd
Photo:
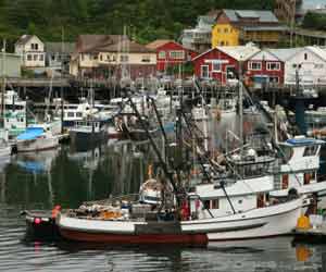
[[[213,48],[192,60],[195,74],[199,78],[212,78],[226,85],[229,79],[235,77],[234,72],[239,71],[240,62],[242,62],[242,73],[246,73],[247,60],[258,52],[260,49],[252,45]]]

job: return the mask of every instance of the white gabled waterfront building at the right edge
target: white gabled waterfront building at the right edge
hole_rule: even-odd
[[[285,85],[326,85],[326,51],[319,47],[269,49],[285,62]]]

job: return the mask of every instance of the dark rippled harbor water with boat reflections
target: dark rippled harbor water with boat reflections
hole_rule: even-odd
[[[253,123],[258,124],[247,123],[244,132]],[[228,125],[238,127],[229,122],[218,127]],[[218,137],[210,139],[218,145],[224,140]],[[300,244],[290,236],[192,248],[99,246],[25,235],[22,210],[77,208],[86,200],[138,193],[153,161],[148,143],[114,140],[90,149],[66,145],[0,161],[0,271],[326,271],[326,244]]]

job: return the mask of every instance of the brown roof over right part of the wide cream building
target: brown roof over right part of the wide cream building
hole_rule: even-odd
[[[126,53],[154,53],[155,50],[149,49],[146,46],[137,44],[135,41],[120,41],[113,45],[98,47],[96,49],[98,52],[126,52]]]

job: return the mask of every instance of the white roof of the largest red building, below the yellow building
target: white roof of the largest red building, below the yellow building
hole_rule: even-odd
[[[210,49],[209,51],[205,51],[197,55],[196,58],[193,58],[193,60],[197,60],[200,57],[216,49],[228,54],[229,57],[234,58],[237,61],[246,61],[260,51],[260,49],[253,46],[252,44],[248,44],[246,46],[236,46],[236,47],[215,47]]]

